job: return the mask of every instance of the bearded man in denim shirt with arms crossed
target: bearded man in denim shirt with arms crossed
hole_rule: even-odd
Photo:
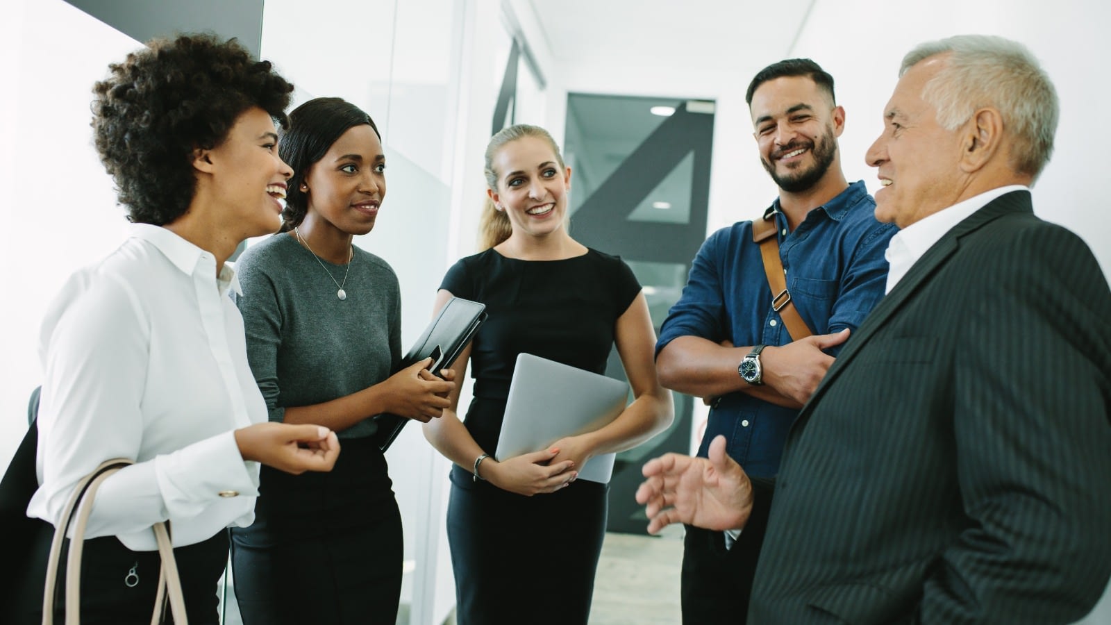
[[[799,409],[883,297],[895,228],[875,220],[863,181],[850,185],[841,171],[844,109],[829,73],[810,59],[780,61],[752,79],[745,99],[760,160],[780,189],[769,211],[787,287],[814,336],[792,343],[772,307],[752,222],[740,221],[702,245],[655,357],[663,386],[715,398],[699,456],[724,435],[748,475],[771,477]],[[739,373],[745,358],[760,364],[751,381]],[[743,623],[757,555],[730,552],[720,532],[687,526],[683,623]]]

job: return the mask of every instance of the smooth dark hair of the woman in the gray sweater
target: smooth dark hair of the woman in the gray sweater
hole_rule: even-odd
[[[286,209],[281,211],[282,232],[301,225],[309,211],[309,200],[301,190],[301,182],[317,161],[349,129],[368,125],[382,140],[382,133],[369,115],[342,98],[314,98],[289,113],[289,126],[283,128],[278,142],[278,155],[293,168],[286,194]]]

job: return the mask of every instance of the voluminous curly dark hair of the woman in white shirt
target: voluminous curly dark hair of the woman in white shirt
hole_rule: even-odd
[[[93,136],[133,222],[162,226],[183,215],[196,192],[193,150],[219,146],[247,110],[288,125],[293,86],[234,39],[157,39],[108,69],[92,89]]]

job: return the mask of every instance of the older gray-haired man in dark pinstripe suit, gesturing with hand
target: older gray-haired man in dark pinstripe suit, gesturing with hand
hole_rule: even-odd
[[[1111,575],[1111,290],[1033,215],[1057,96],[994,37],[900,76],[867,157],[902,228],[889,294],[794,423],[774,503],[723,439],[651,460],[638,500],[653,532],[743,528],[751,623],[1071,623]]]

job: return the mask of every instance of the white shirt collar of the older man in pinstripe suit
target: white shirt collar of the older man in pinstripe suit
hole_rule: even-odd
[[[973,212],[988,206],[988,202],[1003,194],[1029,190],[1030,188],[1024,185],[1009,185],[984,191],[979,196],[972,196],[949,208],[939,210],[895,232],[895,236],[891,237],[891,240],[888,241],[888,251],[884,252],[890,269],[888,270],[887,290],[883,292],[891,292],[891,289],[899,284],[899,280],[907,275],[907,271],[910,271],[910,268],[918,262],[918,259],[922,258],[925,250],[938,242],[945,232],[952,230],[953,226],[957,226]]]

